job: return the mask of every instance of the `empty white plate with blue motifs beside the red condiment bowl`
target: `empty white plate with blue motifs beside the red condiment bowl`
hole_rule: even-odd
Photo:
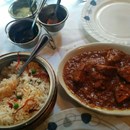
[[[88,0],[81,21],[100,42],[130,44],[130,0]]]

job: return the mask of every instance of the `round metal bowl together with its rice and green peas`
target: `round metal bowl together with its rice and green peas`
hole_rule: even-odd
[[[51,113],[57,95],[55,73],[40,56],[31,61],[22,75],[17,73],[29,52],[0,56],[0,129],[36,127]]]

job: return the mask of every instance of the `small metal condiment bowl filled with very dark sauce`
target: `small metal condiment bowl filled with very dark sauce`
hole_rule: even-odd
[[[32,19],[20,19],[9,22],[5,27],[5,32],[8,39],[21,48],[32,48],[36,45],[41,34],[41,28],[38,23],[35,23],[31,29]]]

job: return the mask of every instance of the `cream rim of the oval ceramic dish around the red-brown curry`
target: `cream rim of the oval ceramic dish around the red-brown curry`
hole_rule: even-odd
[[[83,105],[86,108],[89,108],[91,110],[95,110],[101,113],[105,113],[105,114],[110,114],[110,115],[130,115],[130,109],[123,109],[123,110],[110,110],[110,109],[105,109],[105,108],[101,108],[101,107],[96,107],[93,105],[89,105],[88,103],[85,103],[83,100],[81,100],[64,82],[64,78],[63,78],[63,70],[64,70],[64,66],[66,64],[66,62],[68,61],[68,59],[70,59],[71,57],[78,55],[80,53],[82,53],[83,51],[92,51],[92,50],[101,50],[101,49],[107,49],[107,48],[115,48],[121,51],[124,51],[125,53],[130,54],[130,47],[129,46],[125,46],[125,45],[121,45],[121,44],[111,44],[111,43],[92,43],[92,44],[88,44],[85,46],[81,46],[79,48],[73,49],[72,51],[70,51],[68,54],[66,54],[66,56],[62,59],[59,68],[58,68],[58,81],[61,84],[61,86],[64,88],[64,90],[66,91],[66,93],[73,98],[76,102],[78,102],[79,104]]]

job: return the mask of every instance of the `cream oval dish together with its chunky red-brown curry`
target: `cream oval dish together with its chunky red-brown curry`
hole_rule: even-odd
[[[62,59],[58,81],[82,106],[110,115],[130,115],[130,46],[91,43]]]

